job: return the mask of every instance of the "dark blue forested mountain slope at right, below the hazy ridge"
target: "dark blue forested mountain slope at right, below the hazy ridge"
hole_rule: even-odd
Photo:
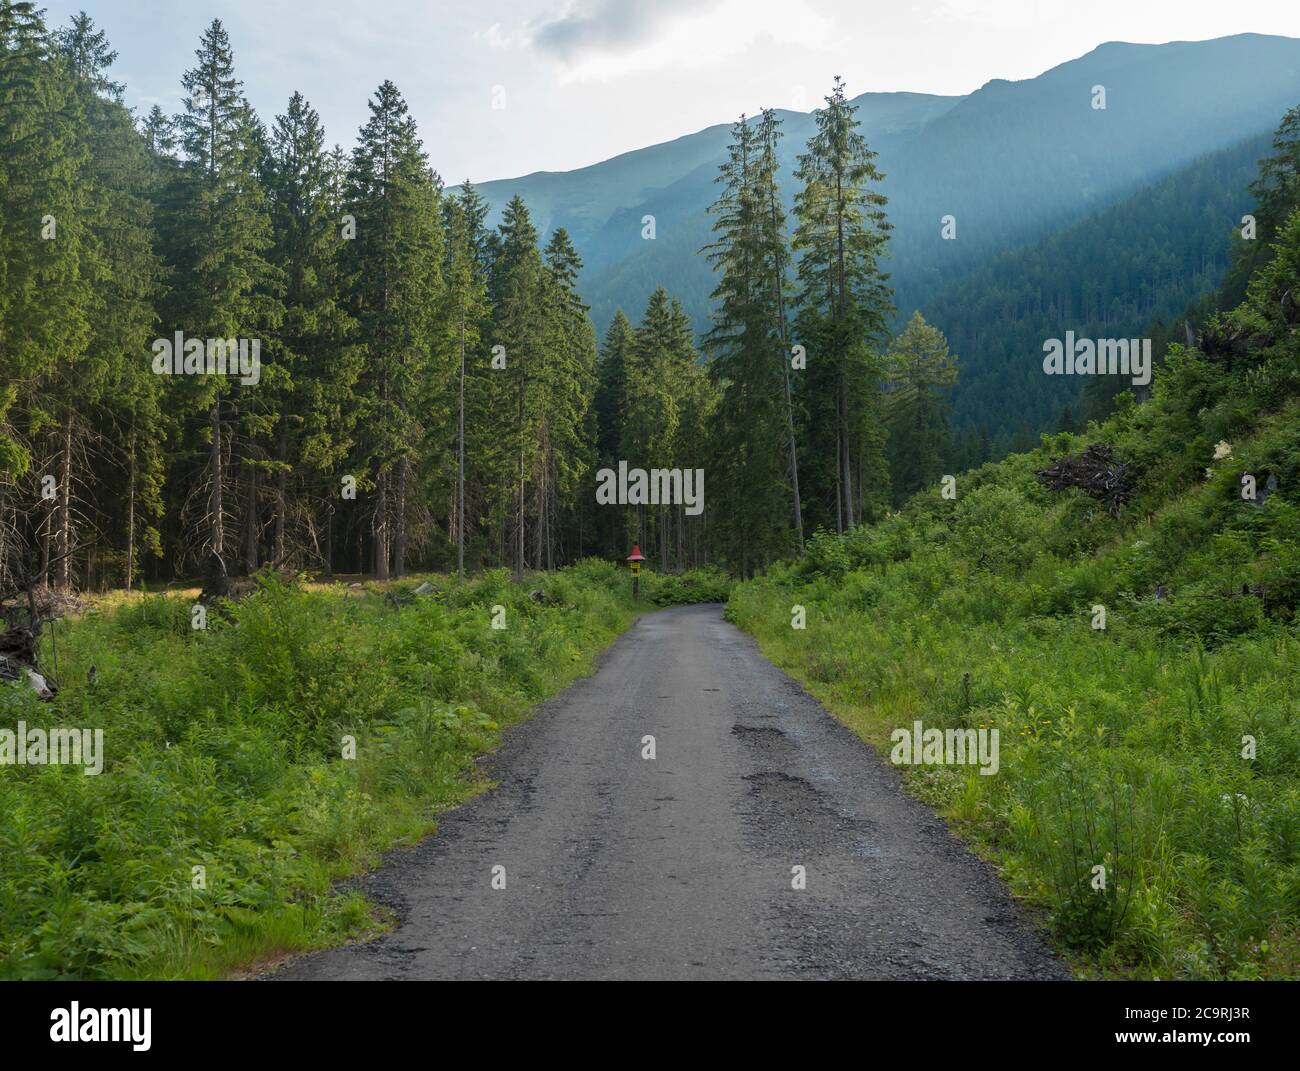
[[[961,359],[958,426],[1050,428],[1084,380],[1043,373],[1043,343],[1138,338],[1214,290],[1269,136],[1204,156],[1118,204],[997,255],[923,302]]]

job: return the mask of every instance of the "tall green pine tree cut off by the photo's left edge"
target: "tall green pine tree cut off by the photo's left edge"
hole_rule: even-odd
[[[0,571],[35,541],[39,574],[66,586],[100,268],[82,99],[27,3],[0,3]]]

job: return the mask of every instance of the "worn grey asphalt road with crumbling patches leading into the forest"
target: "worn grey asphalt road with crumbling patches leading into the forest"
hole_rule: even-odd
[[[270,977],[1069,976],[989,868],[720,607],[642,617],[484,767],[499,788],[364,880],[396,929]]]

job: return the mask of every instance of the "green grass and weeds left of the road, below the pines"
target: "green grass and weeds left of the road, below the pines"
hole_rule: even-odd
[[[0,977],[220,977],[376,929],[338,879],[482,790],[474,759],[647,608],[594,560],[523,586],[268,580],[204,632],[191,604],[104,600],[47,634],[55,703],[0,690],[0,725],[103,728],[107,755],[0,767]]]

